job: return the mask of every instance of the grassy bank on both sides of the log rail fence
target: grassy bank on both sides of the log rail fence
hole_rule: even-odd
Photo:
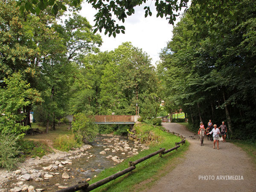
[[[137,132],[137,137],[139,137],[144,142],[151,140],[148,150],[140,151],[139,154],[130,157],[118,164],[115,167],[106,169],[102,171],[96,178],[90,181],[95,183],[98,180],[101,180],[105,177],[115,174],[116,172],[122,171],[123,169],[128,168],[128,162],[137,160],[141,157],[144,157],[154,151],[159,150],[159,148],[172,148],[175,146],[175,142],[180,141],[180,137],[169,134],[163,131],[162,127],[154,127],[148,124],[137,124],[134,125],[134,129]],[[185,143],[178,150],[172,151],[168,154],[165,154],[160,158],[158,155],[151,157],[148,160],[143,161],[136,165],[136,169],[132,172],[123,175],[122,177],[117,178],[93,191],[141,191],[152,186],[155,181],[163,177],[172,169],[175,168],[175,165],[182,160],[183,153],[188,149],[189,143]]]

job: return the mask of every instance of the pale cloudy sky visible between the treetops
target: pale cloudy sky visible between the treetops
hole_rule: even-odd
[[[116,34],[116,38],[114,38],[113,36],[108,37],[108,34],[104,35],[104,29],[102,33],[97,32],[102,36],[103,40],[100,50],[111,51],[123,42],[130,41],[134,47],[147,52],[150,58],[152,58],[151,64],[155,65],[155,62],[160,60],[159,53],[161,49],[166,47],[167,42],[172,38],[173,26],[164,17],[156,17],[157,12],[154,9],[154,5],[150,6],[152,16],[145,18],[144,6],[149,5],[150,1],[137,6],[135,8],[135,14],[128,16],[125,19],[125,23],[119,21],[119,25],[125,26],[125,34]],[[95,24],[93,20],[96,13],[96,10],[90,4],[86,2],[82,3],[82,9],[79,14],[86,17],[92,26]]]

